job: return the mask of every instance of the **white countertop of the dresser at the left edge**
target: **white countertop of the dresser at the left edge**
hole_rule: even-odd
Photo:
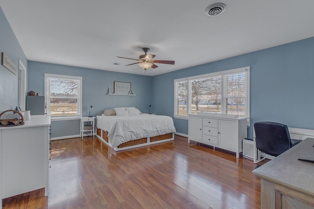
[[[0,129],[27,128],[50,125],[50,115],[30,116],[28,120],[24,120],[24,125],[17,126],[0,126]]]

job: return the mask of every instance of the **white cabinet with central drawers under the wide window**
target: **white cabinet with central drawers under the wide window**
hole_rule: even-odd
[[[242,139],[247,138],[247,118],[228,118],[219,116],[189,115],[188,142],[190,140],[242,152]]]

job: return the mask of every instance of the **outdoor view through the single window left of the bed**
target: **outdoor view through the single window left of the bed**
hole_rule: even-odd
[[[50,115],[78,115],[78,80],[50,78]]]

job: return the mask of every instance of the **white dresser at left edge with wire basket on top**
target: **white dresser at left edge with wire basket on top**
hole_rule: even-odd
[[[49,126],[49,115],[31,116],[25,125],[0,126],[1,200],[44,187],[48,195]]]

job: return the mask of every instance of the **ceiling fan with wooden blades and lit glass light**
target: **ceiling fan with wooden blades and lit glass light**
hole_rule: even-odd
[[[124,58],[124,59],[129,59],[129,60],[136,60],[138,62],[129,64],[129,65],[138,64],[139,67],[141,67],[144,70],[147,70],[149,68],[153,68],[153,69],[154,68],[158,68],[158,66],[155,65],[155,63],[169,64],[169,65],[174,65],[175,64],[175,61],[170,61],[170,60],[153,60],[153,58],[156,55],[147,54],[147,52],[150,50],[150,48],[143,47],[142,50],[145,52],[145,54],[140,55],[138,59],[132,59],[132,58],[127,58],[127,57],[119,57],[119,58]],[[129,66],[129,65],[126,65],[126,66]]]

